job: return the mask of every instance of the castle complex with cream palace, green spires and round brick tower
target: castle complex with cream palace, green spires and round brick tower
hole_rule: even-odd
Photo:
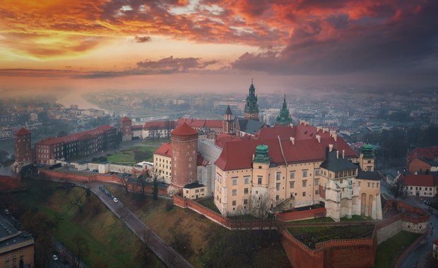
[[[198,183],[223,215],[264,217],[268,210],[324,205],[336,221],[353,215],[381,219],[370,145],[357,156],[334,131],[304,121],[292,125],[285,97],[276,126],[259,122],[258,113],[251,83],[244,118],[233,118],[227,106],[223,133],[214,140],[199,138],[187,124],[177,126],[172,142],[154,154],[158,178],[187,193],[196,193],[192,183]]]

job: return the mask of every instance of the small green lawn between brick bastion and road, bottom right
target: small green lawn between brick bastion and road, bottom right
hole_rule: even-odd
[[[415,239],[418,238],[418,236],[420,236],[418,233],[401,231],[400,233],[396,234],[396,236],[393,236],[384,243],[381,243],[377,248],[376,264],[374,267],[390,267],[390,265],[393,264],[391,263],[391,258],[401,254],[403,247],[407,247],[412,244]]]

